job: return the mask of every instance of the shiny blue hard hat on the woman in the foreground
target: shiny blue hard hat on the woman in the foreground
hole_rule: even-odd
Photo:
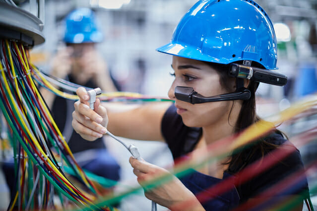
[[[221,64],[252,60],[277,69],[273,24],[253,0],[199,0],[180,21],[171,42],[157,51]]]

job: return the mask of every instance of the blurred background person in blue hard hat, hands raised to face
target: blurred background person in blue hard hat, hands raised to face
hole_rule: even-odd
[[[97,28],[93,11],[89,8],[75,9],[64,21],[65,46],[59,48],[53,58],[50,74],[85,87],[116,91],[107,65],[95,48],[96,43],[103,41],[103,34]],[[73,101],[44,88],[41,92],[79,165],[99,176],[118,181],[120,166],[108,152],[104,139],[89,142],[72,129]]]

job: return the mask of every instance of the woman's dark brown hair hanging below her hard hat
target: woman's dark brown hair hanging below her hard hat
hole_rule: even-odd
[[[232,77],[228,75],[229,65],[206,62],[209,66],[211,66],[220,76],[220,84],[221,86],[226,89],[228,92],[233,92],[232,88],[228,86],[228,81],[233,80]],[[236,62],[240,63],[240,62]],[[262,65],[253,62],[252,66],[263,68]],[[231,84],[231,83],[229,83]],[[260,118],[256,115],[255,112],[255,91],[258,87],[259,83],[254,82],[253,80],[250,81],[249,86],[247,87],[251,92],[251,98],[247,101],[243,101],[238,119],[235,127],[235,132],[240,132],[243,129],[249,127],[254,122],[260,120]],[[231,109],[234,106],[234,102],[232,104]],[[230,116],[230,113],[229,113]],[[229,121],[229,117],[228,117]],[[229,122],[230,123],[230,122]],[[252,146],[247,146],[244,149],[240,150],[238,153],[233,153],[227,161],[223,164],[229,164],[227,171],[229,173],[236,173],[240,171],[245,165],[248,163],[250,158],[254,156],[255,153],[260,152],[261,156],[264,156],[264,153],[268,150],[275,149],[276,145],[267,143],[264,139],[259,139],[255,144]]]

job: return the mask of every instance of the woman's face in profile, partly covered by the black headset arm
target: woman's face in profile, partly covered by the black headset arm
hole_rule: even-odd
[[[202,96],[210,97],[228,93],[228,90],[220,84],[220,76],[208,64],[173,56],[172,68],[175,72],[175,80],[168,92],[169,98],[175,100],[177,113],[183,118],[183,122],[190,127],[205,127],[213,124],[228,123],[228,116],[232,101],[210,102],[203,104],[190,104],[177,100],[174,92],[176,86],[192,87]],[[234,90],[235,80],[226,82]]]

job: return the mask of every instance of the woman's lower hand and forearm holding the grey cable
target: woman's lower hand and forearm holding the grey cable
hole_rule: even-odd
[[[204,210],[193,193],[168,170],[159,166],[140,161],[130,157],[129,162],[133,167],[133,173],[137,176],[138,183],[144,188],[145,197],[166,208],[175,208],[174,206],[190,201],[190,206],[182,210]],[[146,184],[155,178],[170,176],[169,182],[160,184],[158,187],[148,190]],[[175,209],[173,209],[175,210]]]

